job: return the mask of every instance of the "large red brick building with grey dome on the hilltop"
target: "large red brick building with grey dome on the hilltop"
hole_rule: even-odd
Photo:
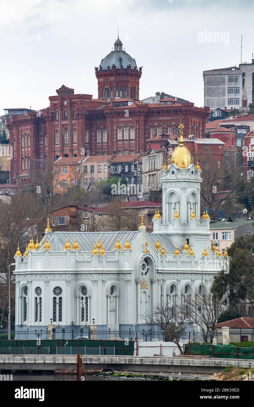
[[[49,107],[7,120],[13,147],[11,182],[28,182],[34,168],[44,160],[59,157],[137,154],[145,151],[146,140],[162,133],[179,134],[182,120],[185,134],[205,136],[209,108],[194,103],[162,99],[141,103],[141,68],[123,49],[119,39],[98,68],[98,98],[75,94],[64,85],[49,97]]]

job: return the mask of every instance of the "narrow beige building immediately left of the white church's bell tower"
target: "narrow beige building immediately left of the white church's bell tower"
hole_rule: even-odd
[[[164,147],[155,150],[151,149],[143,154],[143,196],[149,196],[151,190],[161,188],[161,169],[165,160]]]

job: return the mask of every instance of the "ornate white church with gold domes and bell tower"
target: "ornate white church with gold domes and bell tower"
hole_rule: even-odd
[[[181,126],[180,126],[181,127]],[[161,170],[163,218],[153,232],[54,232],[49,221],[41,244],[29,243],[15,259],[16,327],[91,324],[137,329],[154,304],[184,302],[203,282],[209,287],[223,257],[210,247],[210,218],[200,217],[201,171],[184,146]],[[202,267],[203,263],[203,267]]]

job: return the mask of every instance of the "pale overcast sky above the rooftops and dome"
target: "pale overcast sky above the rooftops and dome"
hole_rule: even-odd
[[[95,66],[119,38],[157,91],[203,106],[203,70],[251,62],[252,0],[0,0],[0,114],[49,106],[62,84],[97,98]],[[223,32],[217,41],[210,32]],[[208,42],[209,41],[209,42]]]

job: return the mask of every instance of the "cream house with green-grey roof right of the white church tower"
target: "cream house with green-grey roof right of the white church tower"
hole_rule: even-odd
[[[210,223],[210,245],[212,242],[224,253],[226,246],[230,247],[239,236],[251,236],[254,232],[253,219],[234,219],[229,216],[219,222]]]

